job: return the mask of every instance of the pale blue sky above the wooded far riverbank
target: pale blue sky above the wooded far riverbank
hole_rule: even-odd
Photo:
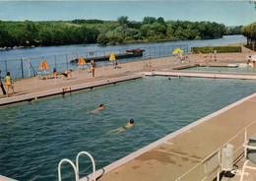
[[[256,22],[256,9],[249,0],[0,0],[1,21],[116,21],[121,16],[246,26]]]

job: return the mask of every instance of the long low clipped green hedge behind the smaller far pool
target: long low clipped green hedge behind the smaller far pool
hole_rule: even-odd
[[[202,47],[192,47],[192,53],[232,53],[232,52],[241,52],[241,46],[202,46]]]

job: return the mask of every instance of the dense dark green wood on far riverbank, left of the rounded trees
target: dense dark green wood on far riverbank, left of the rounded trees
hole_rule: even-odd
[[[98,30],[64,22],[0,22],[0,46],[95,43]]]

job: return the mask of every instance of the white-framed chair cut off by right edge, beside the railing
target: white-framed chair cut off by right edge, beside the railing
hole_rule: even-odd
[[[242,173],[240,177],[240,181],[243,179],[244,170],[245,168],[256,170],[256,137],[251,137],[248,142],[243,144],[244,147],[244,155],[246,157],[246,160],[243,163],[242,166]],[[247,163],[251,161],[255,164],[254,166],[247,166]]]

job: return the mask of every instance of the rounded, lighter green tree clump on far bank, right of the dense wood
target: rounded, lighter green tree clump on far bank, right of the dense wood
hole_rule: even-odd
[[[143,22],[130,22],[120,17],[119,27],[100,33],[99,44],[121,44],[133,42],[159,42],[187,39],[220,38],[224,35],[222,24],[210,22],[167,21],[163,18],[145,17]]]

